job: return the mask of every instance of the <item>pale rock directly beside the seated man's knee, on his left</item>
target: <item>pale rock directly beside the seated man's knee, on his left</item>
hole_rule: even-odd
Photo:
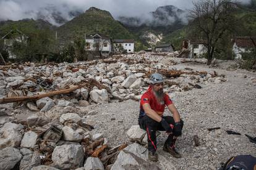
[[[127,131],[127,136],[130,138],[130,140],[137,142],[142,142],[145,134],[147,134],[147,132],[143,129],[140,129],[139,125],[134,125]]]

